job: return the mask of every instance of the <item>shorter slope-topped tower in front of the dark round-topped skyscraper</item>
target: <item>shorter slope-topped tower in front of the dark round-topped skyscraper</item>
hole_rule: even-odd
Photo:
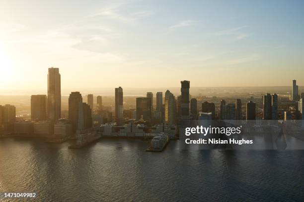
[[[85,102],[78,103],[78,126],[79,131],[92,127],[92,110]]]

